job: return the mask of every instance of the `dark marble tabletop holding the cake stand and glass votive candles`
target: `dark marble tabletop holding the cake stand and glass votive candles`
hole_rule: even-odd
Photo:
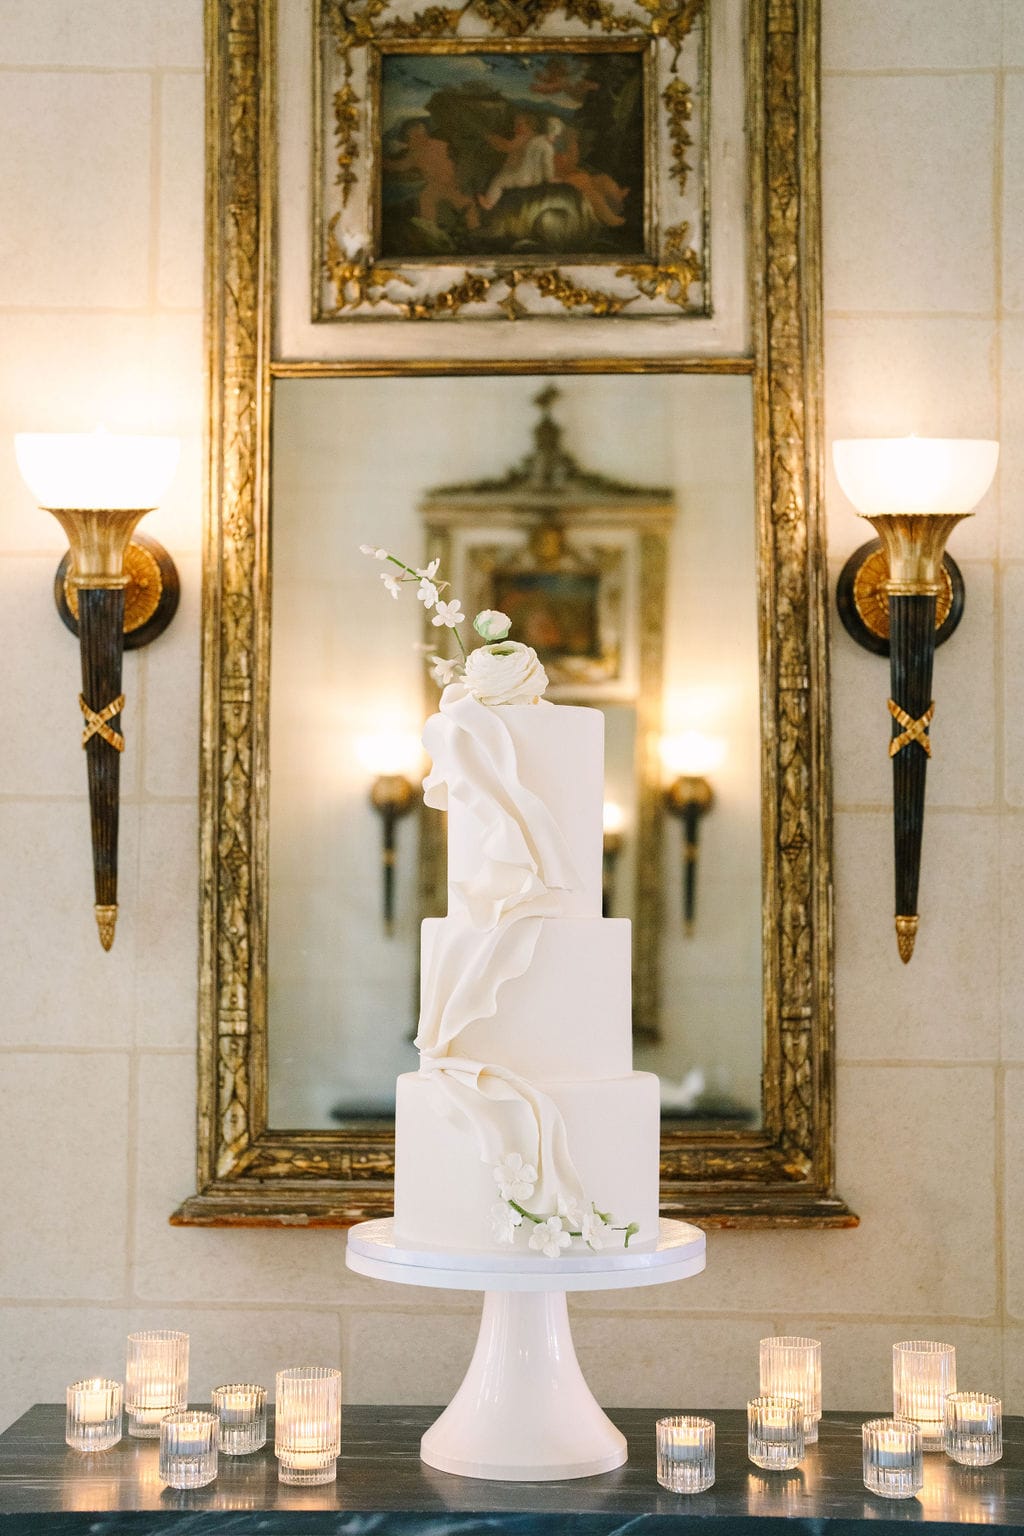
[[[419,1461],[431,1409],[348,1407],[338,1481],[322,1488],[278,1482],[272,1445],[221,1458],[216,1482],[180,1493],[157,1476],[157,1442],[123,1439],[80,1456],[64,1445],[64,1410],[31,1409],[0,1435],[0,1536],[173,1531],[175,1536],[758,1536],[778,1519],[794,1536],[877,1536],[909,1524],[933,1536],[966,1524],[1024,1530],[1024,1419],[1009,1419],[1006,1455],[969,1470],[924,1458],[918,1499],[889,1501],[861,1482],[860,1425],[870,1413],[831,1413],[795,1473],[761,1473],[746,1459],[746,1415],[712,1412],[717,1481],[682,1498],[654,1478],[651,1409],[613,1410],[629,1441],[617,1471],[574,1482],[482,1482]]]

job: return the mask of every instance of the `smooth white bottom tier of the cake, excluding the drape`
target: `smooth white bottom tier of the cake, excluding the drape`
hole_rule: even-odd
[[[585,1083],[537,1083],[562,1112],[570,1154],[586,1190],[616,1226],[636,1223],[629,1249],[657,1241],[660,1092],[652,1072]],[[398,1080],[395,1112],[395,1241],[401,1247],[505,1252],[491,1229],[497,1184],[481,1160],[474,1135],[445,1115],[444,1091],[428,1074]],[[522,1101],[496,1107],[508,1117],[507,1146],[530,1146],[530,1111]],[[530,1201],[525,1201],[530,1209]],[[547,1212],[545,1212],[547,1213]],[[516,1233],[527,1249],[530,1224]],[[620,1246],[622,1233],[605,1235]],[[574,1243],[573,1253],[586,1253]]]

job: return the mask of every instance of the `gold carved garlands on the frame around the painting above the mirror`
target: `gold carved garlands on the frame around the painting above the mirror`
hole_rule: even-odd
[[[705,261],[686,244],[689,232],[686,223],[665,230],[652,260],[623,263],[616,269],[616,276],[631,283],[633,292],[617,293],[596,283],[580,283],[557,266],[531,270],[481,261],[467,267],[453,284],[439,292],[418,293],[408,300],[401,293],[388,293],[387,289],[393,283],[415,286],[408,270],[421,269],[415,263],[408,264],[408,270],[378,267],[364,252],[350,253],[344,249],[344,243],[339,243],[338,223],[353,189],[359,184],[356,167],[362,154],[359,134],[365,103],[352,83],[353,54],[381,41],[419,45],[436,41],[441,46],[445,40],[459,38],[461,25],[467,17],[490,28],[496,38],[491,46],[500,46],[502,41],[505,48],[514,46],[516,41],[522,46],[528,34],[556,15],[605,37],[646,37],[652,43],[666,45],[671,51],[672,78],[660,95],[671,146],[669,178],[682,197],[692,169],[686,155],[694,143],[689,132],[694,92],[674,75],[680,51],[702,15],[705,0],[634,0],[636,11],[616,9],[608,0],[465,0],[459,8],[433,5],[416,11],[411,17],[388,17],[391,3],[393,0],[318,0],[319,34],[333,43],[344,83],[332,97],[335,186],[341,194],[341,209],[330,215],[322,235],[319,230],[315,232],[315,243],[322,240],[322,276],[333,290],[333,306],[315,318],[344,319],[356,312],[365,318],[367,307],[373,316],[381,306],[385,306],[382,310],[385,316],[401,319],[454,318],[487,300],[494,300],[499,312],[514,321],[531,313],[519,293],[520,289],[530,290],[530,287],[536,289],[539,298],[554,300],[570,313],[583,312],[596,318],[619,315],[639,298],[689,310],[692,307],[689,289],[703,280]],[[477,35],[473,40],[477,41]],[[479,43],[485,46],[487,37],[479,38]],[[543,40],[537,38],[537,46],[542,43]],[[580,46],[585,46],[585,37],[580,38]],[[706,61],[706,48],[703,52]],[[321,81],[322,74],[318,74],[318,94]],[[313,111],[319,132],[322,121],[319,100]],[[319,154],[316,161],[319,163]],[[358,244],[365,246],[367,240],[359,240]]]

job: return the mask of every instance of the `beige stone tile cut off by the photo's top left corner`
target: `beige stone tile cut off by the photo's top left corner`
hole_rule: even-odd
[[[0,65],[203,68],[203,0],[5,0]]]

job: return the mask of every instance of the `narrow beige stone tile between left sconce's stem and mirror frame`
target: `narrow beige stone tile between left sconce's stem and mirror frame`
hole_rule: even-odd
[[[200,793],[203,571],[193,554],[177,554],[175,565],[181,582],[178,611],[143,653],[143,783],[147,794],[195,797]]]

